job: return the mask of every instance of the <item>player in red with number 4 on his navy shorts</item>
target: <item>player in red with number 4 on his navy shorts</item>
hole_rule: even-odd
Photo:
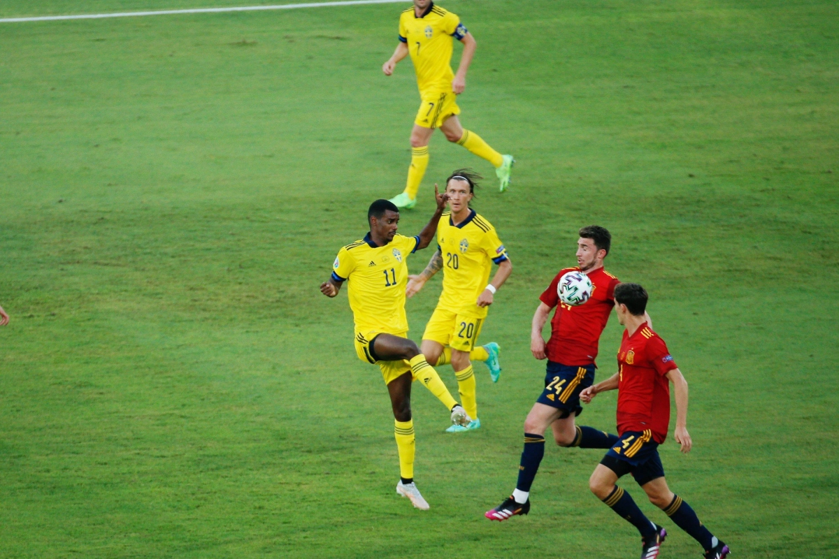
[[[706,559],[723,559],[729,553],[728,546],[702,525],[690,505],[670,491],[659,458],[659,444],[664,443],[670,423],[670,382],[676,401],[675,440],[683,453],[690,451],[687,381],[667,344],[649,327],[644,287],[637,283],[621,283],[615,288],[614,297],[618,321],[626,326],[618,351],[618,372],[608,380],[586,388],[580,399],[588,403],[600,392],[617,388],[620,438],[591,474],[591,492],[638,528],[642,538],[642,559],[659,556],[659,547],[667,532],[644,516],[632,497],[615,484],[625,474],[633,474],[650,502],[664,510],[670,520],[701,544]]]

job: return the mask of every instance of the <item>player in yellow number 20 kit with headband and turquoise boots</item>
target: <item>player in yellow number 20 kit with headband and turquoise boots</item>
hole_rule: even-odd
[[[458,169],[446,180],[451,211],[440,216],[437,251],[419,276],[409,277],[407,288],[408,297],[413,297],[430,277],[443,270],[443,292],[425,326],[420,349],[430,363],[451,363],[463,407],[472,417],[472,422],[465,426],[452,425],[446,429],[448,432],[481,427],[472,360],[486,361],[493,382],[501,374],[498,344],[492,342],[476,348],[475,343],[495,292],[510,277],[513,264],[495,228],[469,207],[479,178],[469,169]],[[498,272],[487,283],[493,262],[498,264]]]

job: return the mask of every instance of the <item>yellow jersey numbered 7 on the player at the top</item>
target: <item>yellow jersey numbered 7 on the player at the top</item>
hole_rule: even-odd
[[[451,80],[455,79],[451,71],[452,37],[460,40],[467,33],[461,18],[433,2],[421,18],[416,17],[414,8],[402,13],[399,40],[408,45],[420,93],[451,91]]]

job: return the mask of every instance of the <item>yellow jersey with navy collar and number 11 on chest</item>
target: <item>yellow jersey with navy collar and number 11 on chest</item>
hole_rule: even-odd
[[[406,262],[419,245],[419,236],[396,235],[387,245],[376,246],[367,233],[361,241],[338,251],[332,265],[332,279],[347,282],[357,332],[383,330],[399,334],[408,330]]]

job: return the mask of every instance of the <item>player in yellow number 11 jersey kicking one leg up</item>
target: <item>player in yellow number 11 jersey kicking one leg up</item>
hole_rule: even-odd
[[[411,382],[419,379],[451,411],[451,421],[468,425],[472,418],[451,397],[440,376],[410,339],[405,317],[405,285],[408,282],[408,256],[425,248],[434,239],[440,215],[446,207],[446,194],[437,193],[437,210],[419,236],[397,235],[399,210],[385,199],[370,205],[367,221],[370,232],[361,241],[338,251],[328,281],[320,292],[335,297],[346,282],[350,308],[355,321],[358,359],[378,364],[388,386],[396,421],[399,449],[399,484],[396,493],[410,499],[418,509],[428,510],[414,484],[414,422],[411,417]]]

